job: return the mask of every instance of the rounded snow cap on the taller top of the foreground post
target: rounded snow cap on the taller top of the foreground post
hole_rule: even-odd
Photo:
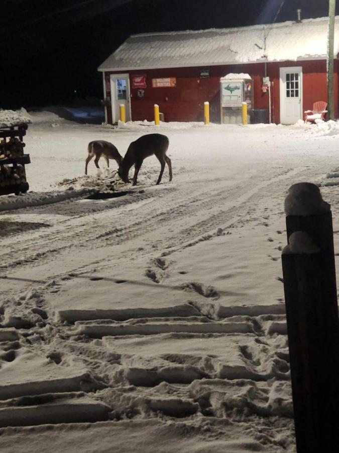
[[[323,201],[319,187],[312,183],[293,184],[285,198],[286,215],[318,215],[328,212],[330,205]]]

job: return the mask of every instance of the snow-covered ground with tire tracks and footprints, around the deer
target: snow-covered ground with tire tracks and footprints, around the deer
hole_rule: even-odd
[[[321,184],[338,249],[338,124],[31,116],[30,192],[0,197],[2,451],[295,451],[283,204]],[[154,157],[135,187],[84,176],[90,140],[155,131],[171,183]]]

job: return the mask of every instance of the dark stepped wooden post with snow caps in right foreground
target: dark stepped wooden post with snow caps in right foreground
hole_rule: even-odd
[[[331,211],[309,183],[290,188],[285,211],[289,245],[282,266],[297,453],[337,451],[339,325]]]

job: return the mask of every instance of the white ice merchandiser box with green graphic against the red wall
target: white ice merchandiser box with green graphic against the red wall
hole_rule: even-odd
[[[242,124],[242,103],[247,103],[247,122],[253,110],[253,80],[249,74],[227,74],[220,79],[221,124]]]

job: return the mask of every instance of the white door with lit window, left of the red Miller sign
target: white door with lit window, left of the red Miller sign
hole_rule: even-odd
[[[129,74],[111,74],[110,96],[112,103],[112,122],[120,119],[120,104],[125,105],[126,121],[131,121],[131,96]]]

